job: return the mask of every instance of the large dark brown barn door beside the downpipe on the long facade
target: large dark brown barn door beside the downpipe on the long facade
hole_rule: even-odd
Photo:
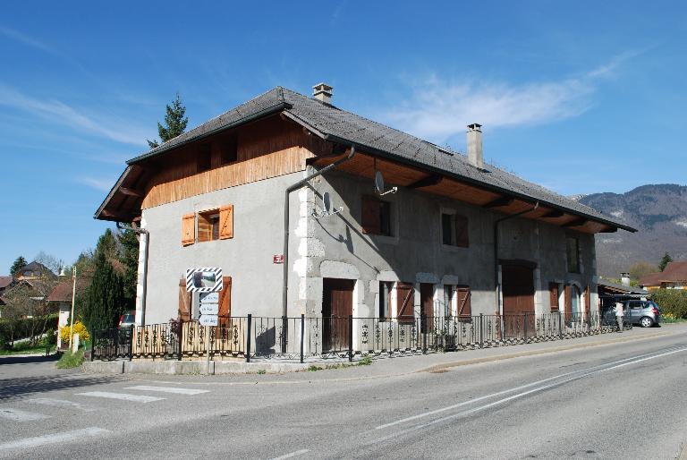
[[[533,269],[522,265],[501,268],[504,295],[504,332],[506,337],[528,336],[534,333]],[[524,314],[528,317],[525,318]]]

